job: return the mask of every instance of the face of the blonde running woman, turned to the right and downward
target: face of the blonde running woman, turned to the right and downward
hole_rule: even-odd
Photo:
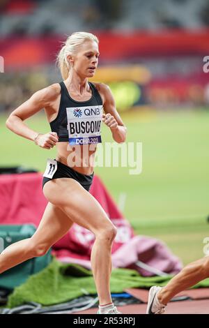
[[[95,41],[85,41],[79,52],[74,57],[75,71],[85,77],[93,77],[98,67],[98,43]]]

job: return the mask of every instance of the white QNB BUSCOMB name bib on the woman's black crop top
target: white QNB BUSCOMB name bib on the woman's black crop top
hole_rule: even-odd
[[[66,108],[70,144],[98,144],[102,124],[102,105]]]

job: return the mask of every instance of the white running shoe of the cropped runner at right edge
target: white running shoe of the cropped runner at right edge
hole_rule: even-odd
[[[146,308],[146,314],[163,314],[165,311],[165,305],[160,303],[157,299],[157,292],[160,292],[162,287],[153,286],[150,288],[148,296],[148,304]]]

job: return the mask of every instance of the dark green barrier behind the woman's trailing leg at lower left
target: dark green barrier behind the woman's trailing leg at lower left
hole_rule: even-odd
[[[0,252],[9,245],[22,239],[30,238],[36,231],[35,225],[0,225]],[[8,269],[0,274],[0,288],[13,290],[22,285],[31,274],[47,267],[52,261],[51,249],[47,254],[27,260],[16,267]]]

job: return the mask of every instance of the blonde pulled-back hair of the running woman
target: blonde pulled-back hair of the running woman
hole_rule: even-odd
[[[61,47],[61,50],[56,57],[56,63],[61,70],[63,80],[68,78],[70,72],[70,63],[67,59],[68,55],[77,54],[80,45],[82,45],[82,43],[84,43],[86,40],[92,40],[96,43],[99,43],[98,38],[92,33],[88,32],[72,33],[71,36],[68,36],[67,40],[65,40],[63,43],[63,47]]]

